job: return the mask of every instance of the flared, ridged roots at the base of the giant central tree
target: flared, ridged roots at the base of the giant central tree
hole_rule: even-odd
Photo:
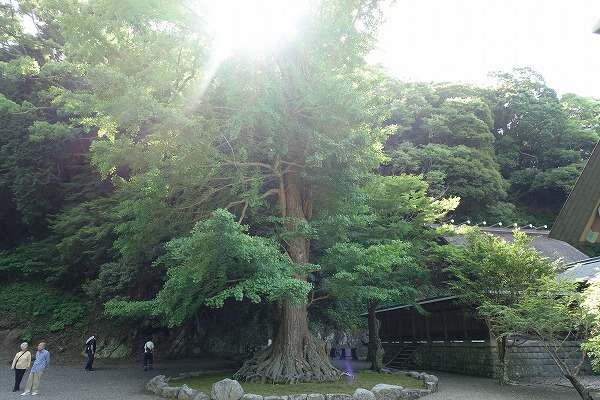
[[[341,378],[341,371],[329,361],[325,346],[310,333],[298,351],[285,351],[276,343],[246,361],[234,374],[241,381],[259,383],[330,382]],[[285,346],[287,347],[287,346]]]

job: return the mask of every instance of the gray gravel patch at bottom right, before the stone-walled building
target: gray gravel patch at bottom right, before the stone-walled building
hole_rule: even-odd
[[[497,381],[433,372],[440,379],[439,392],[425,400],[577,400],[572,388],[560,386],[500,386]]]

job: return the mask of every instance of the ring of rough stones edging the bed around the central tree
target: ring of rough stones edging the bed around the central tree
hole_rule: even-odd
[[[212,371],[215,372],[215,371]],[[217,371],[222,372],[222,371]],[[167,378],[164,375],[157,375],[150,379],[145,385],[146,391],[167,399],[176,400],[416,400],[438,391],[438,378],[435,375],[417,371],[400,371],[398,374],[410,376],[411,378],[423,381],[424,389],[409,389],[397,385],[388,385],[380,383],[373,386],[371,390],[358,388],[354,394],[348,393],[328,393],[328,394],[290,394],[281,396],[262,396],[252,393],[244,393],[242,386],[238,381],[232,379],[223,379],[215,382],[210,396],[199,392],[187,385],[169,386],[170,381],[199,376],[208,371],[188,372],[179,374],[176,378]]]

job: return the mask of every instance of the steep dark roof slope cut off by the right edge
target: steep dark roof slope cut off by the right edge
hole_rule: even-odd
[[[600,144],[594,148],[573,191],[554,221],[550,237],[577,245],[598,201],[600,201]]]

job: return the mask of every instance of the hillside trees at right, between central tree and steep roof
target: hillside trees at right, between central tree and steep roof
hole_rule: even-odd
[[[389,83],[397,131],[385,171],[423,174],[431,194],[459,196],[460,218],[551,224],[600,138],[599,103],[559,99],[527,68],[495,76],[493,90]]]

